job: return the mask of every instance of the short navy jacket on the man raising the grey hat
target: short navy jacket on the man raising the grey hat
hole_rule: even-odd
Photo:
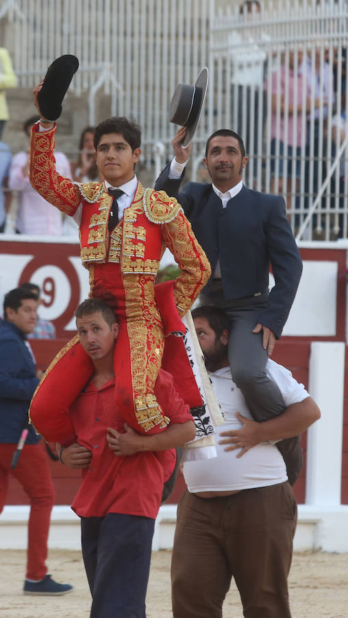
[[[212,273],[220,259],[226,299],[264,292],[272,265],[275,286],[258,321],[279,338],[302,273],[284,199],[243,186],[223,208],[210,183],[187,183],[179,192],[182,178],[169,179],[168,174],[169,165],[160,174],[155,188],[176,197],[182,205],[198,242],[206,251]],[[203,293],[209,294],[211,282],[212,277]]]

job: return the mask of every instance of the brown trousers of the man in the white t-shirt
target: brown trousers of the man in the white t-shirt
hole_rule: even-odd
[[[171,565],[173,617],[221,618],[234,577],[245,618],[290,618],[296,523],[288,481],[210,499],[186,491]]]

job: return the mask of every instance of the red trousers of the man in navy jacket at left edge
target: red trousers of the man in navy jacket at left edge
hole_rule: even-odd
[[[27,545],[28,580],[47,575],[47,542],[55,492],[47,453],[42,443],[25,444],[14,470],[10,468],[16,444],[0,444],[0,513],[8,492],[10,474],[21,483],[30,503]]]

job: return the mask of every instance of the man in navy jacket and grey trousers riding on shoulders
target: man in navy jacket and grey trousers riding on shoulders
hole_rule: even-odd
[[[266,361],[279,339],[295,299],[302,262],[286,219],[284,199],[243,185],[247,165],[243,140],[229,129],[213,133],[204,165],[212,183],[187,183],[179,192],[191,147],[182,147],[186,128],[173,139],[175,159],[160,174],[156,190],[175,196],[206,251],[212,275],[204,301],[227,310],[231,319],[229,363],[253,417],[266,420],[285,409]],[[269,268],[275,286],[269,293]],[[288,477],[301,470],[299,439],[279,443]]]

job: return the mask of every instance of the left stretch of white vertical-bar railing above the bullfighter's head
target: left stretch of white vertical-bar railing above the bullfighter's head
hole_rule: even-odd
[[[193,84],[208,64],[213,13],[214,0],[6,0],[0,18],[11,22],[22,87],[34,87],[54,58],[75,54],[71,91],[86,97],[90,124],[102,119],[97,92],[110,95],[110,115],[133,116],[142,126],[151,165],[153,144],[169,149],[175,133],[168,110],[177,83]],[[197,141],[205,139],[203,118]]]

